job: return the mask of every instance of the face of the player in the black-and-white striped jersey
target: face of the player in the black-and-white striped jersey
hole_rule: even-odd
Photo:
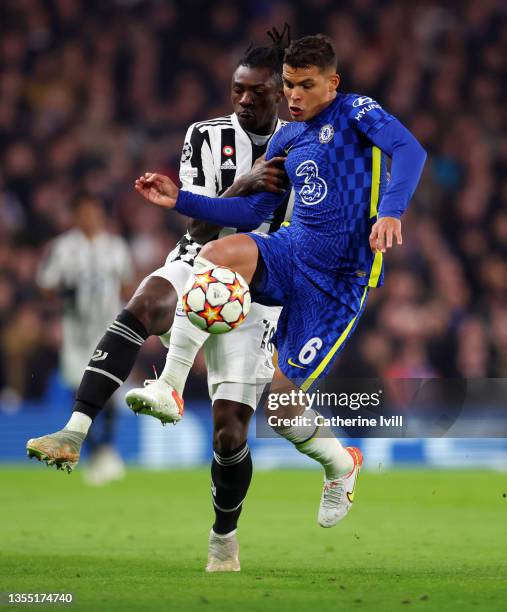
[[[232,76],[232,106],[239,124],[248,132],[273,131],[282,97],[280,86],[267,68],[238,66]]]

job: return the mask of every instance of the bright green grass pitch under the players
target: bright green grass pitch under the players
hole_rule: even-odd
[[[72,592],[60,609],[76,611],[507,609],[505,474],[365,471],[350,515],[322,529],[318,472],[257,472],[242,571],[208,575],[207,470],[94,489],[36,467],[0,469],[0,592]]]

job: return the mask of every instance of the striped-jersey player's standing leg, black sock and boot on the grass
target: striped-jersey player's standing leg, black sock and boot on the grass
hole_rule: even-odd
[[[207,572],[239,572],[236,528],[252,479],[247,445],[250,406],[218,399],[213,402],[211,492],[215,522],[208,543]]]

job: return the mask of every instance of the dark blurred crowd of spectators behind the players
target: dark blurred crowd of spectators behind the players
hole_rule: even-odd
[[[188,125],[231,112],[235,62],[285,21],[293,37],[330,35],[342,89],[377,99],[429,154],[403,248],[388,254],[385,287],[371,292],[337,369],[507,376],[505,2],[3,0],[4,402],[44,397],[57,370],[59,311],[35,278],[48,241],[73,224],[76,194],[103,199],[135,281],[159,267],[185,221],[144,203],[134,179],[147,169],[177,177]],[[134,376],[163,356],[148,341]],[[203,380],[199,361],[189,392]]]

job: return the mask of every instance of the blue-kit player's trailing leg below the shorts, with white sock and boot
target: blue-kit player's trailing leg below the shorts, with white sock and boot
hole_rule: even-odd
[[[295,398],[292,404],[274,410],[266,404],[266,416],[271,417],[270,423],[279,435],[324,468],[318,522],[321,527],[333,527],[352,507],[356,480],[363,462],[361,451],[355,447],[344,448],[329,427],[316,424],[317,413],[307,409],[303,392],[279,368],[275,370],[270,393],[292,393],[291,397]],[[274,400],[271,405],[274,405]],[[309,425],[286,426],[278,421],[303,415]]]

